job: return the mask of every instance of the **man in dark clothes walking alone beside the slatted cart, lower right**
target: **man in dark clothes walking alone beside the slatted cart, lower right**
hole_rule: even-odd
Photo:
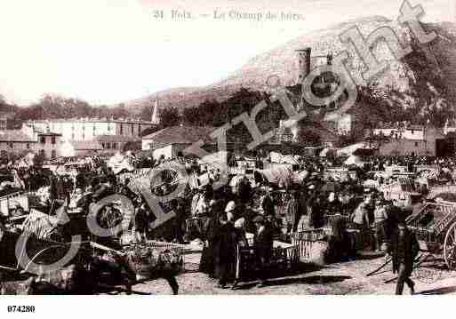
[[[410,279],[413,270],[413,261],[420,250],[416,236],[407,227],[404,219],[400,220],[393,232],[391,241],[391,253],[393,255],[393,272],[397,273],[396,295],[402,295],[404,283],[414,293],[415,284]]]

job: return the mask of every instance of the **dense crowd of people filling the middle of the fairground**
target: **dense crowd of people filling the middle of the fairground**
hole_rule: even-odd
[[[214,189],[212,183],[220,179],[220,170],[212,170],[207,164],[198,165],[195,160],[182,157],[177,160],[185,164],[188,172],[207,172],[209,181],[200,187],[187,186],[179,196],[163,203],[165,210],[174,211],[176,217],[154,229],[149,225],[156,216],[144,195],[129,187],[130,178],[121,178],[122,173],[116,175],[100,159],[94,159],[90,166],[76,167],[75,172],[68,175],[31,168],[19,171],[18,176],[24,189],[35,190],[39,195],[38,210],[49,214],[61,206],[84,214],[108,195],[127,196],[132,201],[133,211],[125,212],[120,203],[109,203],[100,210],[102,226],[120,223],[123,215],[129,213],[133,218],[128,231],[137,242],[159,239],[188,243],[198,238],[204,243],[200,270],[217,278],[222,288],[235,280],[238,247],[254,246],[252,267],[257,269],[259,285],[264,285],[275,240],[291,243],[293,234],[323,228],[329,229],[324,233],[328,262],[356,259],[360,248],[370,248],[387,256],[392,254],[395,269],[403,278],[402,285],[409,283],[412,288],[407,279],[410,276],[407,247],[412,245],[412,236],[404,222],[410,211],[385,198],[378,189],[366,189],[365,176],[368,171],[382,171],[390,165],[403,165],[413,171],[414,166],[420,164],[436,165],[441,171],[450,171],[452,176],[455,164],[451,159],[371,157],[364,159],[362,167],[350,168],[356,172],[353,177],[348,175],[348,179],[338,180],[325,176],[324,171],[339,165],[340,159],[302,157],[299,171],[308,171],[308,177],[298,184],[272,185],[245,175],[236,179],[234,185],[228,183]],[[160,158],[153,162],[159,165],[166,160]],[[172,174],[164,175],[161,185],[152,190],[158,196],[166,195],[172,190],[174,178]],[[189,224],[188,220],[193,219],[204,220],[204,225]],[[348,228],[356,230],[357,235],[350,235]],[[408,245],[405,248],[404,241]],[[402,292],[402,288],[397,292]]]

